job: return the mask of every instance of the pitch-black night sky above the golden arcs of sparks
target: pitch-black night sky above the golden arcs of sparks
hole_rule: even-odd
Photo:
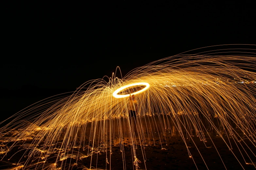
[[[0,89],[8,115],[39,99],[74,91],[88,80],[111,76],[117,66],[126,75],[187,50],[256,44],[252,3],[98,1],[12,3],[4,8]]]

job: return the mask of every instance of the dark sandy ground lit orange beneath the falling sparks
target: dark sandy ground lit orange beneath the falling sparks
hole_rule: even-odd
[[[165,120],[165,123],[163,123],[163,119],[152,118],[141,121],[140,130],[132,130],[132,133],[130,133],[127,120],[122,119],[122,121],[115,120],[111,122],[114,131],[110,132],[107,129],[105,135],[109,136],[111,133],[111,140],[102,137],[103,131],[100,123],[96,126],[91,123],[88,124],[85,131],[79,130],[80,135],[78,136],[80,138],[77,138],[77,145],[80,146],[79,143],[84,143],[86,146],[93,146],[90,138],[92,136],[90,134],[94,133],[91,130],[93,126],[96,127],[94,147],[105,140],[108,145],[107,148],[87,158],[78,160],[68,158],[64,162],[67,164],[77,163],[71,169],[89,168],[90,166],[92,169],[135,169],[133,163],[135,150],[136,158],[140,161],[138,169],[255,169],[254,165],[250,163],[256,163],[256,157],[253,156],[253,153],[256,153],[256,149],[252,143],[248,142],[249,140],[235,142],[231,136],[223,134],[223,139],[228,146],[232,147],[232,149],[229,149],[222,137],[214,133],[214,131],[205,132],[204,141],[200,140],[200,137],[195,132],[192,132],[191,136],[189,136],[183,131],[183,134],[185,134],[185,141],[183,141],[178,129],[171,121],[168,123],[168,120],[167,122]],[[110,121],[106,124],[110,124]],[[163,126],[163,124],[166,126]],[[84,137],[82,138],[81,136]],[[61,143],[62,140],[60,139],[59,142]],[[26,143],[31,143],[31,140],[21,141],[20,145]],[[56,145],[56,148],[60,147],[60,143]],[[18,150],[18,147],[12,149],[4,158],[3,154],[1,155],[3,159],[0,162],[0,169],[15,167],[10,163],[17,163],[25,151],[19,151],[10,160],[8,159]],[[83,151],[81,148],[74,148],[73,150],[85,155],[88,154],[86,149]],[[23,157],[20,162],[24,161],[26,161],[26,157]],[[54,159],[47,160],[47,163],[54,162]]]

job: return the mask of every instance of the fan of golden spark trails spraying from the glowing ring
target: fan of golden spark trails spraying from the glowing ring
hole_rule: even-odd
[[[256,147],[255,46],[228,47],[167,57],[134,69],[124,78],[113,74],[107,81],[89,81],[72,95],[55,96],[15,114],[0,129],[2,161],[15,162],[14,169],[111,169],[112,148],[118,146],[125,169],[125,137],[130,139],[130,159],[138,169],[142,164],[146,167],[143,146],[149,145],[147,141],[154,143],[149,134],[154,131],[164,139],[173,125],[185,144],[185,139],[193,140],[194,132],[206,142],[205,135],[214,130],[230,150],[241,150],[244,162],[237,160],[241,167],[245,163],[253,166],[256,155],[247,144]],[[115,98],[113,92],[141,82],[150,87],[135,95],[138,110],[134,123],[128,119],[129,97]],[[131,86],[119,94],[143,88]],[[156,121],[158,126],[152,123]],[[165,144],[161,145],[164,149]],[[136,156],[138,152],[143,160]],[[187,153],[194,159],[189,147]],[[105,157],[103,165],[94,163],[93,157]],[[91,159],[89,165],[81,163],[85,158]]]

